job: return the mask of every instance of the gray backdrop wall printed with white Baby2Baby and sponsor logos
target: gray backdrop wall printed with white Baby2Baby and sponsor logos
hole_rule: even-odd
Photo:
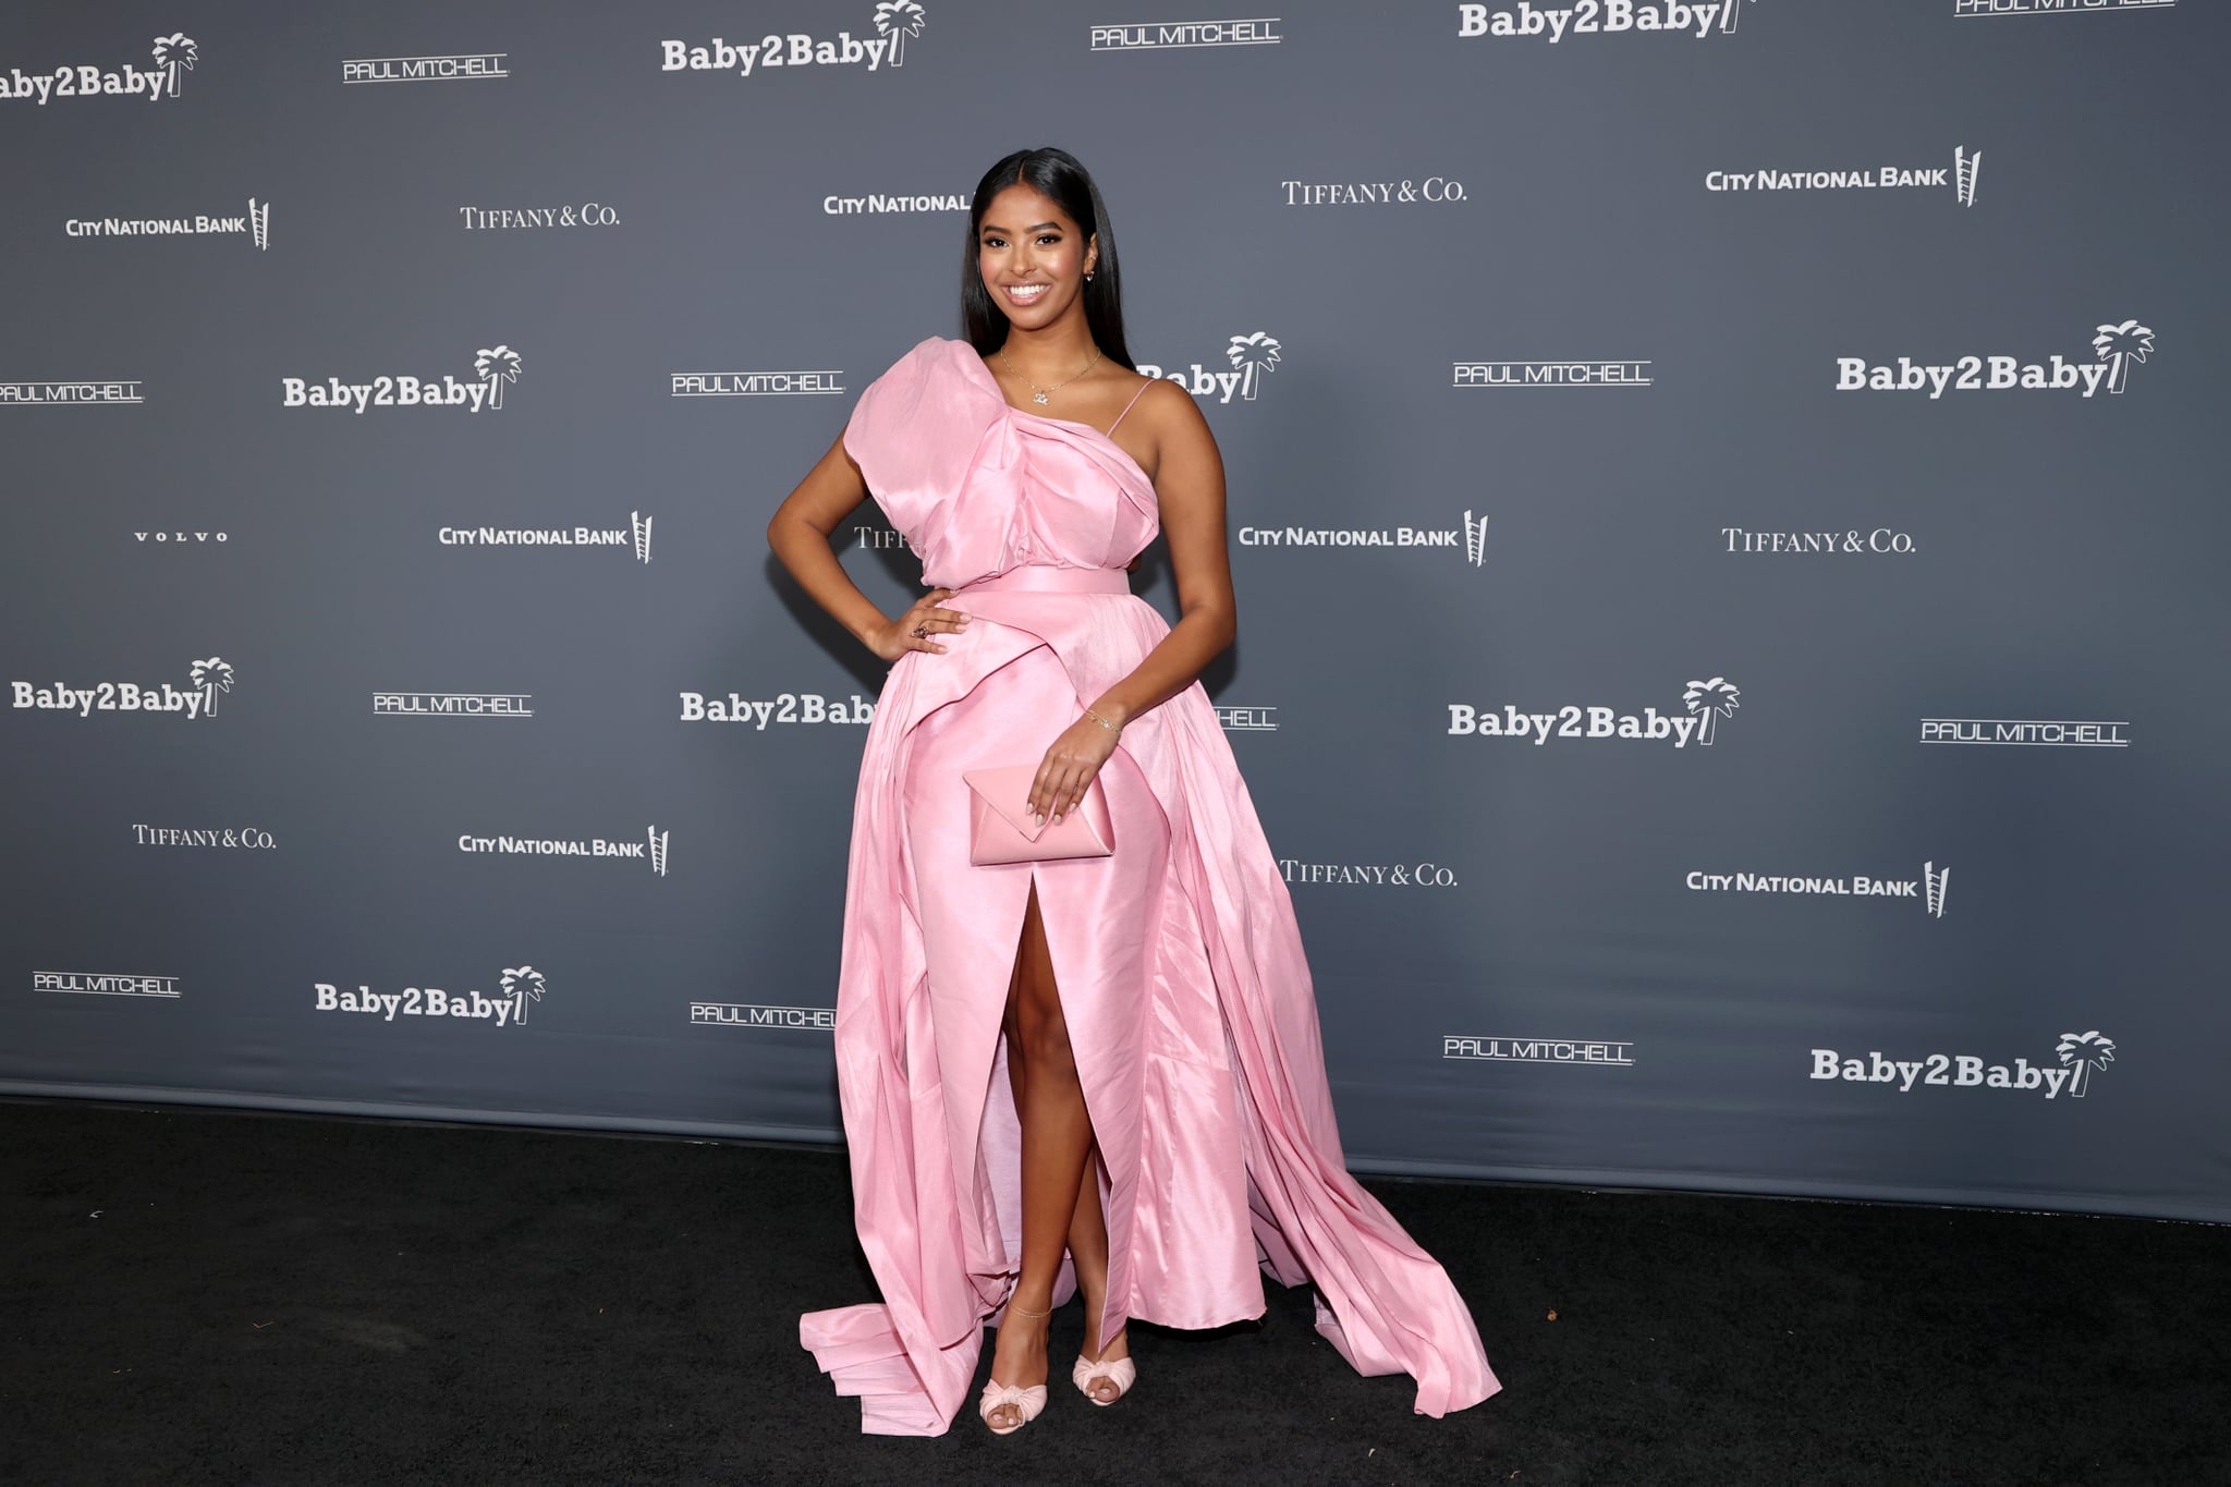
[[[1359,1170],[2231,1219],[2227,42],[13,4],[0,1090],[839,1139],[881,667],[763,526],[1055,143]]]

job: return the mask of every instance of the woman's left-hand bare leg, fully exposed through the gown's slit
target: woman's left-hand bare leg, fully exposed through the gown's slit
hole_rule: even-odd
[[[1053,1306],[1053,1277],[1062,1269],[1084,1182],[1084,1155],[1093,1144],[1084,1088],[1069,1050],[1069,1023],[1053,983],[1046,925],[1037,914],[1037,885],[1022,914],[1015,979],[1006,994],[1006,1068],[1022,1121],[1022,1277],[999,1322],[991,1376],[1002,1384],[1046,1382],[1046,1318],[1024,1311]],[[1098,1199],[1093,1211],[1098,1215]],[[1107,1231],[1100,1228],[1100,1284],[1107,1284]],[[993,1411],[991,1425],[1020,1425],[1011,1407]]]

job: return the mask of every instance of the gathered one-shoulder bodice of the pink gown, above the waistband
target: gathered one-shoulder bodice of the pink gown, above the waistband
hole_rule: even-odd
[[[1153,484],[1120,444],[1011,406],[966,341],[906,352],[859,395],[843,441],[944,589],[1024,564],[1122,568],[1160,531]]]

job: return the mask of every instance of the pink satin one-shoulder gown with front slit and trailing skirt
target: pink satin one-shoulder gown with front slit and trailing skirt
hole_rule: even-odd
[[[861,392],[846,450],[975,620],[944,655],[901,655],[868,727],[837,1083],[883,1300],[805,1313],[801,1342],[870,1433],[944,1433],[966,1402],[1020,1269],[999,1017],[1035,876],[1104,1162],[1100,1335],[1263,1315],[1267,1269],[1316,1286],[1316,1329],[1361,1373],[1410,1373],[1419,1413],[1495,1393],[1448,1275],[1341,1159],[1294,907],[1200,684],[1102,767],[1113,856],[968,865],[962,771],[1035,765],[1169,633],[1122,571],[1158,531],[1145,470],[1098,428],[1008,406],[937,337]]]

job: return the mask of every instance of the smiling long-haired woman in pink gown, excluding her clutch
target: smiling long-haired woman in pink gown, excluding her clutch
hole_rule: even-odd
[[[1046,1402],[1046,1318],[1086,1306],[1075,1387],[1133,1382],[1124,1324],[1263,1313],[1267,1269],[1417,1411],[1497,1391],[1448,1275],[1343,1166],[1301,932],[1200,669],[1234,635],[1223,466],[1194,399],[1131,370],[1116,247],[1060,149],[977,185],[966,341],[861,392],[767,540],[892,660],[852,816],[837,1081],[879,1304],[801,1340],[861,1427],[944,1433]],[[872,495],[933,589],[886,618],[830,533]],[[1176,626],[1127,582],[1162,533]],[[975,867],[964,771],[1031,765],[1033,823],[1098,787],[1113,854]]]

